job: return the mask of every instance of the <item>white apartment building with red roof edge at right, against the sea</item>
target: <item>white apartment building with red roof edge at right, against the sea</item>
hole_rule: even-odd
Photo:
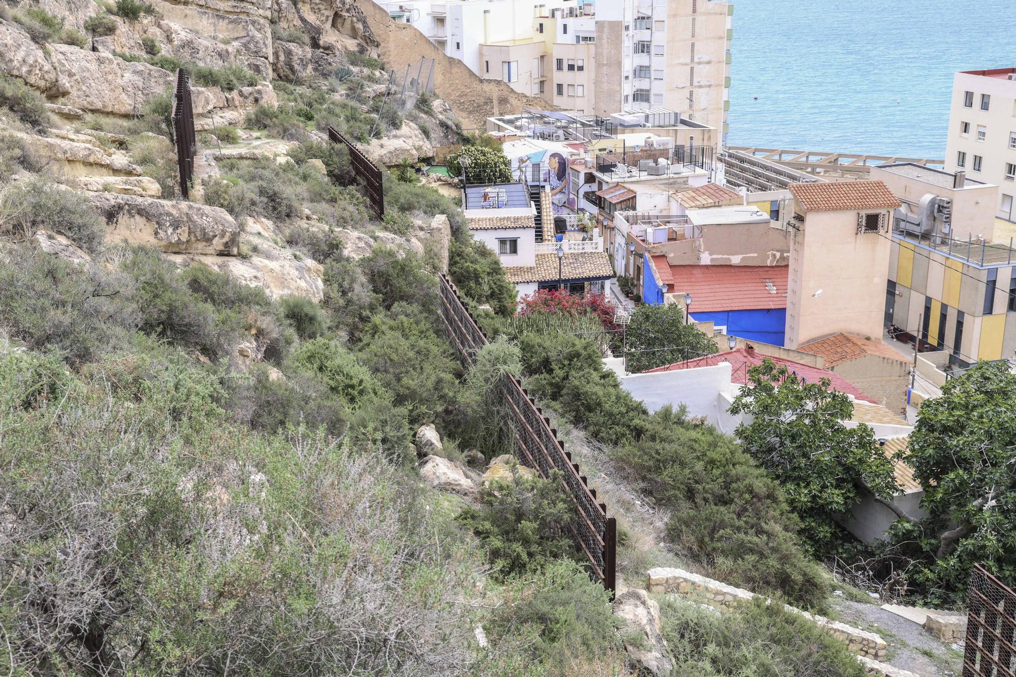
[[[956,73],[945,171],[999,186],[996,216],[1016,221],[1016,68]]]

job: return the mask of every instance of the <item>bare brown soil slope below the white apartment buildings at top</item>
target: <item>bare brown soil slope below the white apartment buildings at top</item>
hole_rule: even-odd
[[[404,68],[421,56],[435,59],[434,87],[462,120],[463,128],[484,128],[488,117],[518,113],[523,108],[552,108],[543,99],[520,95],[501,80],[481,78],[458,59],[445,56],[420,30],[393,21],[376,3],[363,2],[360,9],[389,68]]]

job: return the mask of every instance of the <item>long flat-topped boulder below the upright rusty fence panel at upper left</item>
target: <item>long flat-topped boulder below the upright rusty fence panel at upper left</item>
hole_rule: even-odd
[[[168,253],[239,253],[240,227],[223,208],[118,193],[82,193],[106,219],[108,240],[154,245]]]

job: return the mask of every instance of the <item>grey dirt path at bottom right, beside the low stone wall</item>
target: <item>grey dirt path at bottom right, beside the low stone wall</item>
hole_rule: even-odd
[[[962,673],[963,655],[913,621],[863,602],[839,600],[835,608],[844,623],[876,632],[886,640],[889,644],[886,662],[890,665],[915,672],[920,677],[949,677]]]

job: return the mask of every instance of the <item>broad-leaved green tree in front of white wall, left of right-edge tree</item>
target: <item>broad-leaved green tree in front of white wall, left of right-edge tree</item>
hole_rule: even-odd
[[[872,429],[843,425],[853,404],[829,379],[809,382],[767,359],[749,370],[748,381],[731,406],[732,414],[750,417],[735,434],[779,481],[813,547],[832,544],[833,515],[849,511],[866,491],[896,492],[892,464]]]

